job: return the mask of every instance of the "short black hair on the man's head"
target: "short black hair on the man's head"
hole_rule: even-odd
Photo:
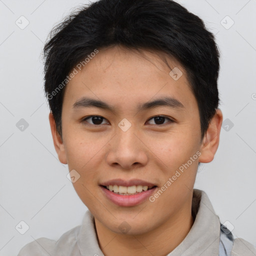
[[[173,0],[98,0],[53,27],[43,48],[44,90],[61,137],[68,74],[95,50],[114,45],[160,51],[181,64],[197,101],[202,138],[219,103],[219,50],[203,21]]]

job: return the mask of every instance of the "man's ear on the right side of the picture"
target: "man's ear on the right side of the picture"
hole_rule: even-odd
[[[201,146],[199,162],[210,162],[214,158],[214,154],[217,151],[219,143],[219,133],[221,129],[223,115],[220,109],[216,110],[216,113],[210,120],[208,129],[204,134]]]

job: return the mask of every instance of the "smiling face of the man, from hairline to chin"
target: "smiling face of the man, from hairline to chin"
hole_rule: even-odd
[[[203,157],[185,70],[169,59],[183,73],[176,79],[155,52],[141,53],[100,49],[63,98],[59,159],[80,175],[73,186],[94,218],[117,233],[123,221],[142,234],[191,207]]]

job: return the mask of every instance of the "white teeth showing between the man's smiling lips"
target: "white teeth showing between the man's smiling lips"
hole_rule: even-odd
[[[118,186],[118,185],[107,185],[104,186],[109,191],[112,191],[115,194],[121,194],[121,195],[134,195],[141,193],[146,190],[150,190],[156,186],[142,186],[142,185],[133,185],[133,186]]]

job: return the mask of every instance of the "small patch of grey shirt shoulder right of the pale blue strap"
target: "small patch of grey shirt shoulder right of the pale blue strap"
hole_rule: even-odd
[[[256,247],[242,238],[235,238],[231,250],[231,256],[255,256]]]

